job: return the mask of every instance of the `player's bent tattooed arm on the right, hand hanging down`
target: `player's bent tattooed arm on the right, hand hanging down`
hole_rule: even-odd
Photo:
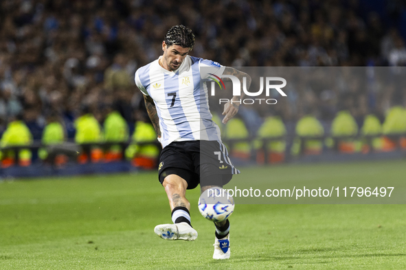
[[[233,75],[235,77],[237,77],[241,84],[243,84],[243,77],[247,78],[247,90],[249,89],[249,86],[251,86],[251,77],[247,74],[244,73],[242,71],[238,71],[232,67],[226,67],[223,75]],[[223,80],[230,80],[229,78],[224,78]],[[229,119],[232,119],[234,117],[234,115],[237,114],[238,112],[238,108],[240,108],[241,105],[241,99],[244,96],[244,91],[241,93],[240,96],[234,96],[232,97],[231,101],[228,101],[227,103],[225,103],[224,106],[224,111],[223,111],[223,115],[224,119],[223,119],[223,123],[227,123],[229,121]]]

